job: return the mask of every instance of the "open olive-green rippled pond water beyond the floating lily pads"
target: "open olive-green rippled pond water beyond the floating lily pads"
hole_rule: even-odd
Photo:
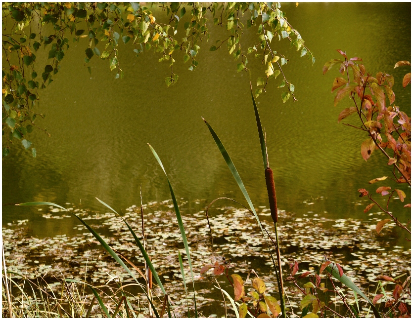
[[[362,159],[360,145],[366,137],[361,131],[337,123],[340,111],[350,104],[343,101],[334,107],[331,85],[338,72],[334,68],[322,75],[321,70],[327,60],[339,58],[338,48],[362,57],[372,73],[394,75],[396,103],[410,116],[411,86],[401,85],[408,71],[393,66],[411,60],[411,4],[299,3],[296,7],[289,3],[282,9],[313,51],[316,63],[312,66],[299,58],[287,40],[277,42],[275,50],[290,59],[284,73],[295,85],[298,101],[282,103],[281,89],[276,88],[280,80],[257,99],[278,206],[297,217],[364,219],[367,200],[359,198],[357,189],[375,190],[376,185],[367,182],[391,172],[378,152],[367,162]],[[164,82],[168,65],[158,63],[153,51],[136,58],[132,46],[120,44],[125,78],[115,80],[108,61],[96,58],[90,63],[90,75],[83,64],[86,40],[72,43],[60,72],[41,92],[38,110],[47,118],[38,125],[46,127],[51,137],[32,134],[36,159],[16,143],[2,160],[2,225],[29,219],[32,234],[42,238],[70,234],[78,224],[75,219],[45,220],[38,208],[10,205],[19,202],[81,203],[104,211],[97,197],[125,212],[140,204],[140,186],[144,203],[170,199],[165,176],[147,143],[163,161],[181,200],[207,204],[229,197],[244,203],[201,116],[222,139],[254,205],[268,206],[249,91],[249,80],[254,83],[263,75],[261,60],[248,58],[251,75],[237,73],[237,62],[228,51],[209,52],[225,34],[216,26],[210,31],[211,40],[201,45],[194,72],[187,70],[182,57],[176,59],[179,80],[170,88]],[[254,42],[255,34],[254,28],[245,29],[245,47]],[[404,190],[409,203],[410,189]],[[405,203],[391,204],[402,221],[411,215],[410,209],[403,208]],[[202,205],[194,213],[199,209]],[[405,236],[400,232],[402,239]]]

